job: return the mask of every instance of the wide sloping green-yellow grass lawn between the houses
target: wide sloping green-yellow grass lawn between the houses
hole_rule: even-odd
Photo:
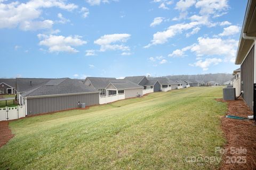
[[[0,168],[215,169],[186,157],[220,158],[221,97],[222,87],[188,88],[12,121]]]

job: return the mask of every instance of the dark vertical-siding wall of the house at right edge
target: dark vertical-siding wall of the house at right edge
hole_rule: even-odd
[[[253,110],[253,52],[254,46],[246,56],[241,65],[241,90],[244,91],[243,99],[245,103]]]

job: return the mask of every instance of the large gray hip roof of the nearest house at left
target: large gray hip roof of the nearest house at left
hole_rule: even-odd
[[[62,78],[53,79],[41,86],[38,86],[32,90],[29,90],[22,94],[23,97],[33,96],[51,96],[51,95],[65,95],[65,94],[77,94],[83,92],[98,92],[98,90],[79,83],[78,81]]]

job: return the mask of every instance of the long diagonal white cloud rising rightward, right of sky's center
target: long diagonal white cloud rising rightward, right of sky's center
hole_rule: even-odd
[[[162,31],[162,32],[156,32],[153,35],[153,40],[151,40],[151,43],[145,46],[144,48],[148,48],[152,45],[157,45],[157,44],[164,44],[167,42],[169,38],[174,37],[178,33],[182,33],[185,30],[189,30],[191,28],[196,27],[199,24],[199,22],[190,22],[190,23],[185,23],[185,24],[175,24],[171,25],[167,30]]]

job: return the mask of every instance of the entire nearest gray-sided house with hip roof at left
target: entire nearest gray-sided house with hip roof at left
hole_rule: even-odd
[[[21,94],[26,106],[26,115],[73,109],[79,104],[99,104],[99,91],[78,81],[53,79]]]

